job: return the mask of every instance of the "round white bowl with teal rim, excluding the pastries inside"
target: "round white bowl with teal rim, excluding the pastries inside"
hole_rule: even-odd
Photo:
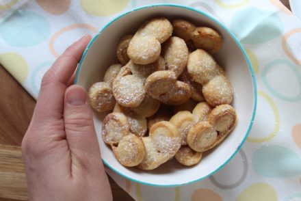
[[[101,81],[107,67],[118,61],[116,59],[116,45],[120,38],[125,34],[134,33],[144,21],[154,16],[165,16],[170,20],[187,19],[195,25],[212,27],[222,35],[224,42],[222,49],[214,57],[226,70],[234,88],[233,107],[235,107],[238,116],[235,130],[226,137],[220,146],[203,157],[198,165],[185,167],[172,160],[156,170],[148,171],[120,165],[111,148],[103,142],[101,137],[101,122],[105,114],[94,113],[94,123],[105,165],[114,172],[138,183],[174,187],[207,178],[233,158],[250,132],[257,103],[257,89],[254,72],[244,48],[224,25],[211,16],[192,8],[166,4],[137,8],[120,15],[107,24],[92,39],[83,53],[75,83],[88,90],[90,85]]]

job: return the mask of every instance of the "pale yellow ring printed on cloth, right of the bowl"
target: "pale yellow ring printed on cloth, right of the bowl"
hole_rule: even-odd
[[[276,136],[276,134],[278,133],[278,131],[280,129],[280,114],[279,114],[278,108],[276,107],[276,104],[274,103],[273,99],[263,91],[258,91],[258,96],[264,98],[267,101],[267,103],[270,105],[270,107],[274,113],[275,123],[274,123],[273,131],[265,137],[252,137],[251,135],[249,135],[249,137],[247,138],[247,141],[253,142],[253,143],[262,143],[262,142],[270,141],[271,139],[273,139]],[[261,110],[259,110],[259,111],[261,111]],[[263,133],[261,133],[261,135],[262,134]]]

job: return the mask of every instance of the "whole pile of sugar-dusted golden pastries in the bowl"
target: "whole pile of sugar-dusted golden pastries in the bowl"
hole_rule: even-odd
[[[153,170],[172,158],[195,165],[231,133],[233,89],[213,58],[221,46],[217,31],[163,17],[121,38],[120,63],[91,86],[89,100],[111,112],[102,137],[122,165]]]

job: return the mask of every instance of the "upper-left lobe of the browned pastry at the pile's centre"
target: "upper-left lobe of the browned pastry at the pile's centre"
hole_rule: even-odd
[[[176,83],[176,75],[170,70],[159,70],[153,72],[146,81],[144,87],[146,92],[155,99],[159,99],[161,94],[172,90]]]

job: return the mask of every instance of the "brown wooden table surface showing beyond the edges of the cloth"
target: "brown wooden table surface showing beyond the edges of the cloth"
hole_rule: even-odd
[[[289,8],[289,0],[281,2]],[[0,85],[0,201],[28,200],[20,146],[36,101],[1,65]],[[109,180],[114,200],[133,200]]]

